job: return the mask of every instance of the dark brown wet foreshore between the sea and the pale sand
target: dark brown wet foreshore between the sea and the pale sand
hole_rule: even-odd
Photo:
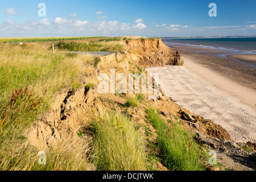
[[[166,40],[163,40],[163,42],[173,51],[179,51],[181,56],[193,57],[193,60],[196,60],[198,64],[218,72],[219,75],[256,90],[256,54],[241,54],[238,52],[228,54],[225,51],[213,48],[177,46],[177,44],[166,42]]]

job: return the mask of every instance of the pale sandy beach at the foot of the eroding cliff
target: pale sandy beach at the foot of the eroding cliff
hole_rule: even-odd
[[[237,142],[256,142],[256,90],[220,75],[195,57],[183,55],[183,59],[183,67],[147,71],[159,73],[160,88],[178,105],[212,119]]]

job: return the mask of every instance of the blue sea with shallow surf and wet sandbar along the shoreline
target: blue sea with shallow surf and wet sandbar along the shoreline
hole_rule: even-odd
[[[163,38],[172,49],[189,51],[200,55],[229,58],[247,67],[256,68],[256,37],[240,38]],[[253,74],[256,70],[253,71]]]

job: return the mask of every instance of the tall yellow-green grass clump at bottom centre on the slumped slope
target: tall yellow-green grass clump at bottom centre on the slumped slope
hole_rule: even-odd
[[[110,113],[93,122],[97,170],[144,171],[147,167],[144,141],[123,114]]]

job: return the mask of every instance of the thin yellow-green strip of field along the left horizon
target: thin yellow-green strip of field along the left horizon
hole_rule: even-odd
[[[93,39],[93,38],[104,38],[102,36],[82,36],[82,37],[60,37],[60,38],[0,38],[0,43],[29,43],[29,42],[52,42],[59,40],[82,40],[82,39]]]

